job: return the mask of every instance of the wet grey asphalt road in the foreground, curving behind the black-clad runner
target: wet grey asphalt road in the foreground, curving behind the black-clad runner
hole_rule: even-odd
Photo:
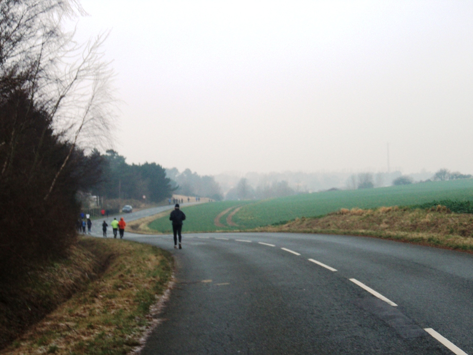
[[[473,255],[333,235],[125,238],[176,260],[142,354],[473,354]]]

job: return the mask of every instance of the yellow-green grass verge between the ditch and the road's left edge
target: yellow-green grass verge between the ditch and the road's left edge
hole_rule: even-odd
[[[77,248],[81,251],[75,256],[101,255],[103,273],[97,270],[95,277],[86,273],[90,281],[82,291],[0,353],[126,354],[141,345],[152,323],[150,306],[171,280],[172,256],[152,246],[111,238],[82,237]],[[72,255],[56,268],[66,270],[74,260]],[[58,277],[45,271],[44,278]]]

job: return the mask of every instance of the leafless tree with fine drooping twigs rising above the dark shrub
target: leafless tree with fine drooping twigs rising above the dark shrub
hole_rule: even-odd
[[[66,19],[83,14],[76,0],[0,1],[0,95],[6,97],[14,90],[27,92],[30,108],[35,105],[46,113],[57,137],[70,142],[69,153],[50,181],[45,200],[77,146],[110,144],[113,73],[102,51],[107,35],[80,45],[74,41],[74,32],[64,29]],[[0,142],[0,178],[8,174],[14,159],[21,158],[16,156],[18,136],[33,124],[15,121],[8,139]],[[40,139],[30,180],[41,162],[42,144]]]

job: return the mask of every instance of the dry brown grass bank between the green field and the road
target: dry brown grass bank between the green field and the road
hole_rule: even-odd
[[[257,230],[376,236],[473,251],[473,215],[451,213],[440,205],[429,210],[397,206],[374,210],[341,209],[321,218],[296,218],[282,226]]]

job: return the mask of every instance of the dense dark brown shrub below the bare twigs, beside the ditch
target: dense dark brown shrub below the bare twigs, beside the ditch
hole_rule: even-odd
[[[85,183],[96,180],[100,171],[94,171],[94,157],[90,160],[75,149],[57,176],[71,146],[53,133],[48,115],[23,92],[0,97],[0,121],[0,142],[9,141],[15,132],[14,144],[0,149],[2,281],[17,276],[31,263],[66,255],[76,238],[80,205],[75,194]]]

